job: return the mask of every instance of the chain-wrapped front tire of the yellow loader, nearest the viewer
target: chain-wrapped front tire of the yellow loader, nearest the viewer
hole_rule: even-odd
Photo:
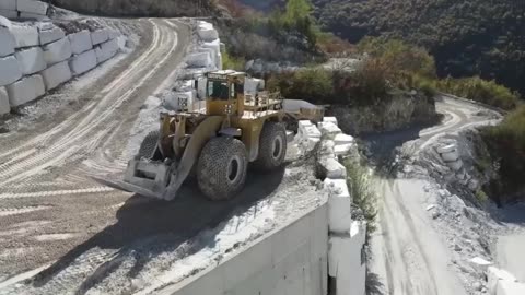
[[[229,200],[243,189],[247,168],[248,157],[243,142],[229,137],[213,138],[200,153],[197,181],[210,200]]]

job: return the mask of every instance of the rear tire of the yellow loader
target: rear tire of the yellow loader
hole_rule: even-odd
[[[262,170],[273,170],[284,163],[288,141],[287,130],[279,122],[266,122],[259,139],[259,155],[255,166]]]

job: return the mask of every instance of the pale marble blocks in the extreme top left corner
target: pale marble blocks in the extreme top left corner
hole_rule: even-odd
[[[11,20],[47,20],[48,3],[37,0],[0,0],[0,16]]]

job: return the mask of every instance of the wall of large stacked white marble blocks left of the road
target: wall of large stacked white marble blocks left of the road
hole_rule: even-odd
[[[50,22],[25,24],[0,16],[0,115],[115,56],[117,35],[108,28],[66,35]]]

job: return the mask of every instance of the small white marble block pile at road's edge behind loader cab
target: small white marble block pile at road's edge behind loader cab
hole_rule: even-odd
[[[197,50],[187,56],[188,67],[222,70],[221,39],[217,30],[211,23],[198,21],[197,35],[199,44]]]

